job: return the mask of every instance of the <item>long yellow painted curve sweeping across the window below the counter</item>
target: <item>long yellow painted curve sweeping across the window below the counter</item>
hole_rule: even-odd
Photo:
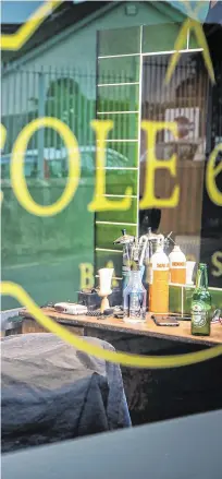
[[[106,350],[99,346],[91,345],[86,340],[82,339],[79,336],[71,334],[65,327],[57,324],[53,320],[46,316],[34,300],[27,295],[27,292],[22,288],[22,286],[15,283],[2,282],[1,283],[1,294],[7,296],[12,296],[21,304],[25,306],[28,312],[36,319],[36,321],[44,326],[46,330],[59,336],[62,340],[75,346],[81,351],[87,352],[88,355],[95,356],[106,361],[120,363],[126,367],[133,368],[178,368],[182,366],[190,366],[197,362],[206,361],[207,359],[212,359],[222,354],[222,346],[215,346],[209,349],[197,352],[188,352],[186,355],[177,356],[139,356],[130,355],[126,352],[114,352]]]

